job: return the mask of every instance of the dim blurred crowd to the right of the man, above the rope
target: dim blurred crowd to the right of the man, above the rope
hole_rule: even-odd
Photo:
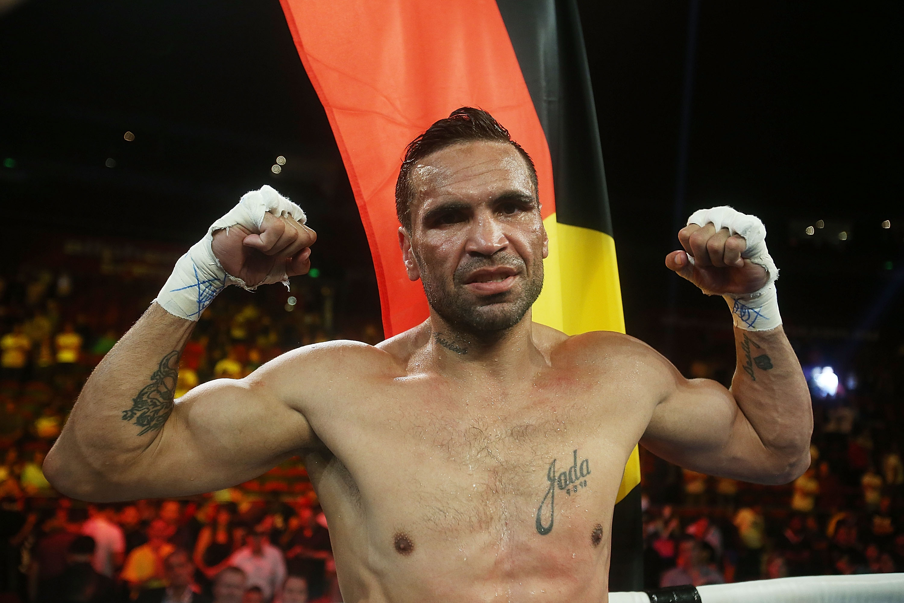
[[[819,354],[798,355],[819,374]],[[811,379],[811,465],[792,484],[705,476],[642,450],[646,588],[904,571],[904,345],[865,344],[852,366],[831,393]]]

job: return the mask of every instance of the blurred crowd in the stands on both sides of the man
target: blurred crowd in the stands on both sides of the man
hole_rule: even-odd
[[[0,603],[340,601],[325,516],[298,459],[184,500],[82,504],[44,479],[81,385],[159,281],[0,274]],[[373,321],[337,311],[335,287],[230,287],[195,328],[176,395],[301,344],[379,342]],[[647,588],[904,570],[904,346],[876,345],[852,363],[853,381],[815,392],[813,463],[791,485],[704,476],[642,450]],[[700,366],[687,372],[709,376]]]

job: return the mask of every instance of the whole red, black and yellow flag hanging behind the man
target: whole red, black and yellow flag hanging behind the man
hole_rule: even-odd
[[[455,108],[489,111],[537,167],[550,238],[533,320],[624,333],[615,242],[575,0],[281,0],[370,243],[387,337],[428,316],[402,264],[405,146]],[[637,449],[612,526],[609,589],[643,588]]]

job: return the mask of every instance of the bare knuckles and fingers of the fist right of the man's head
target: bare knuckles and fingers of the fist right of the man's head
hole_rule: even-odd
[[[678,231],[678,240],[684,250],[665,256],[665,266],[710,295],[753,293],[769,280],[766,269],[741,257],[747,240],[727,228],[688,224]]]

